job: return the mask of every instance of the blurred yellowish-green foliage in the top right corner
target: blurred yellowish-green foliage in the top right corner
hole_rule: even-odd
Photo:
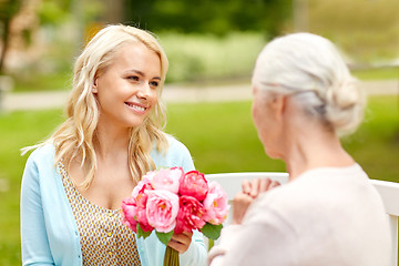
[[[309,30],[335,41],[359,63],[399,57],[398,0],[308,2]]]

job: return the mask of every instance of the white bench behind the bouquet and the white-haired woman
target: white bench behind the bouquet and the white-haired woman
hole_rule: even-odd
[[[239,192],[241,184],[244,180],[269,177],[276,180],[280,184],[288,182],[287,173],[277,172],[249,172],[249,173],[223,173],[223,174],[207,174],[206,178],[216,181],[226,191],[228,201],[233,201],[237,192]],[[399,216],[399,183],[370,180],[377,191],[380,193],[392,232],[392,266],[398,266],[398,216]],[[225,224],[231,223],[231,216],[227,217]]]

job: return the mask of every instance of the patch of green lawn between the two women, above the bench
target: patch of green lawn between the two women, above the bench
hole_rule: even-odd
[[[284,171],[283,162],[265,155],[249,102],[178,104],[168,113],[167,132],[188,147],[198,171]]]

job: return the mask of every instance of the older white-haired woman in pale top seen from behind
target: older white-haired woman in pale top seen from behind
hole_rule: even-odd
[[[310,33],[275,39],[257,59],[253,93],[258,136],[289,182],[244,183],[208,263],[389,265],[381,198],[339,141],[361,122],[364,98],[334,44]]]

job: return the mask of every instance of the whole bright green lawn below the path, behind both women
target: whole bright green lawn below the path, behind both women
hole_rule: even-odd
[[[369,100],[366,122],[344,140],[371,178],[399,182],[397,96]],[[167,132],[190,149],[205,173],[285,171],[268,158],[250,117],[250,102],[170,104]],[[63,120],[60,110],[0,115],[0,265],[20,265],[19,195],[27,156],[19,149],[43,140]]]

